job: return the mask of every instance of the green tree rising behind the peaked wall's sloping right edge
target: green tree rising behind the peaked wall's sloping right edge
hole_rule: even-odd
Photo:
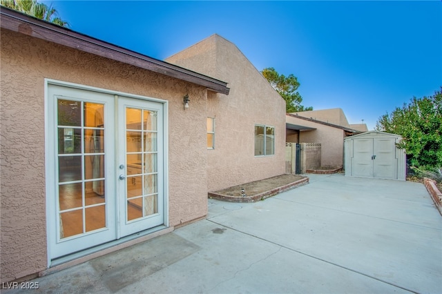
[[[305,107],[301,105],[302,97],[299,94],[298,87],[300,86],[298,78],[294,75],[280,75],[274,68],[265,68],[261,74],[269,81],[276,92],[285,100],[286,112],[298,112],[313,110],[313,107]]]

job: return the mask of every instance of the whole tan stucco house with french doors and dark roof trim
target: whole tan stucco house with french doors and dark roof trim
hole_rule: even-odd
[[[208,190],[284,173],[284,101],[228,41],[193,47],[213,46],[203,75],[0,13],[1,282],[168,233],[206,215]]]

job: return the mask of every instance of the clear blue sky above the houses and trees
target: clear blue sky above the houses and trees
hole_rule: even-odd
[[[442,86],[441,1],[44,1],[70,28],[156,59],[217,33],[302,104],[378,118]]]

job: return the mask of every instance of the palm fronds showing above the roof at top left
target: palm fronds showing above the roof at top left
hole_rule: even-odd
[[[52,8],[52,5],[47,6],[44,3],[37,2],[37,0],[0,0],[0,5],[28,14],[31,17],[37,17],[37,19],[55,23],[59,26],[69,26],[67,21],[57,17],[57,10]]]

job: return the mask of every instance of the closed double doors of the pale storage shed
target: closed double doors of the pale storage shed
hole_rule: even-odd
[[[352,176],[397,179],[394,138],[353,140]]]

